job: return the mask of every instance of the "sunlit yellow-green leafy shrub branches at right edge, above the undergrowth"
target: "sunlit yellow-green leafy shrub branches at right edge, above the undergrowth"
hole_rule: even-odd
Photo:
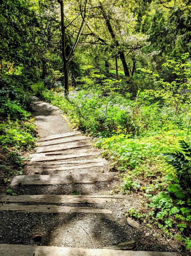
[[[187,92],[191,89],[191,63],[188,58],[189,53],[184,53],[180,59],[170,58],[162,65],[173,74],[174,79],[171,82],[164,81],[159,74],[154,74],[151,70],[140,69],[150,76],[159,89],[138,91],[139,99],[147,100],[148,103],[157,101],[161,106],[172,106],[175,115],[179,115],[185,105],[190,104],[190,94]]]

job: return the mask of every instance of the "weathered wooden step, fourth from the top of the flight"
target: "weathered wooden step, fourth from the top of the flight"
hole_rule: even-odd
[[[37,153],[30,155],[31,162],[42,162],[42,161],[56,161],[56,160],[64,160],[70,158],[77,158],[77,157],[86,157],[86,156],[94,156],[99,154],[99,150],[96,149],[77,149],[77,150],[70,150],[64,151],[62,155],[52,155],[46,156],[44,153]]]

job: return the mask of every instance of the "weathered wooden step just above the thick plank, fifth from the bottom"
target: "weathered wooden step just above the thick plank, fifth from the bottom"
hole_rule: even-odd
[[[90,160],[80,160],[72,162],[46,162],[46,163],[30,163],[28,166],[35,171],[65,171],[65,170],[77,170],[85,169],[96,166],[104,166],[108,164],[108,161],[104,158],[96,158]]]

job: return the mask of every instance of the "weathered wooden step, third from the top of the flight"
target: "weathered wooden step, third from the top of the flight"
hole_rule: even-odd
[[[91,142],[74,142],[74,143],[64,143],[60,145],[50,145],[45,147],[37,147],[36,151],[38,153],[41,152],[52,152],[52,151],[59,151],[59,150],[68,150],[74,148],[81,148],[81,147],[88,147],[91,146]]]

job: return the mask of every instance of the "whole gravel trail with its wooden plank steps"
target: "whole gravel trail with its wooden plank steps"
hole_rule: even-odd
[[[175,255],[140,252],[155,238],[145,237],[142,226],[132,228],[123,214],[140,198],[112,192],[117,173],[90,137],[73,131],[59,108],[37,97],[32,113],[39,144],[23,175],[12,180],[16,195],[0,196],[0,255]],[[137,252],[108,249],[132,240]]]

